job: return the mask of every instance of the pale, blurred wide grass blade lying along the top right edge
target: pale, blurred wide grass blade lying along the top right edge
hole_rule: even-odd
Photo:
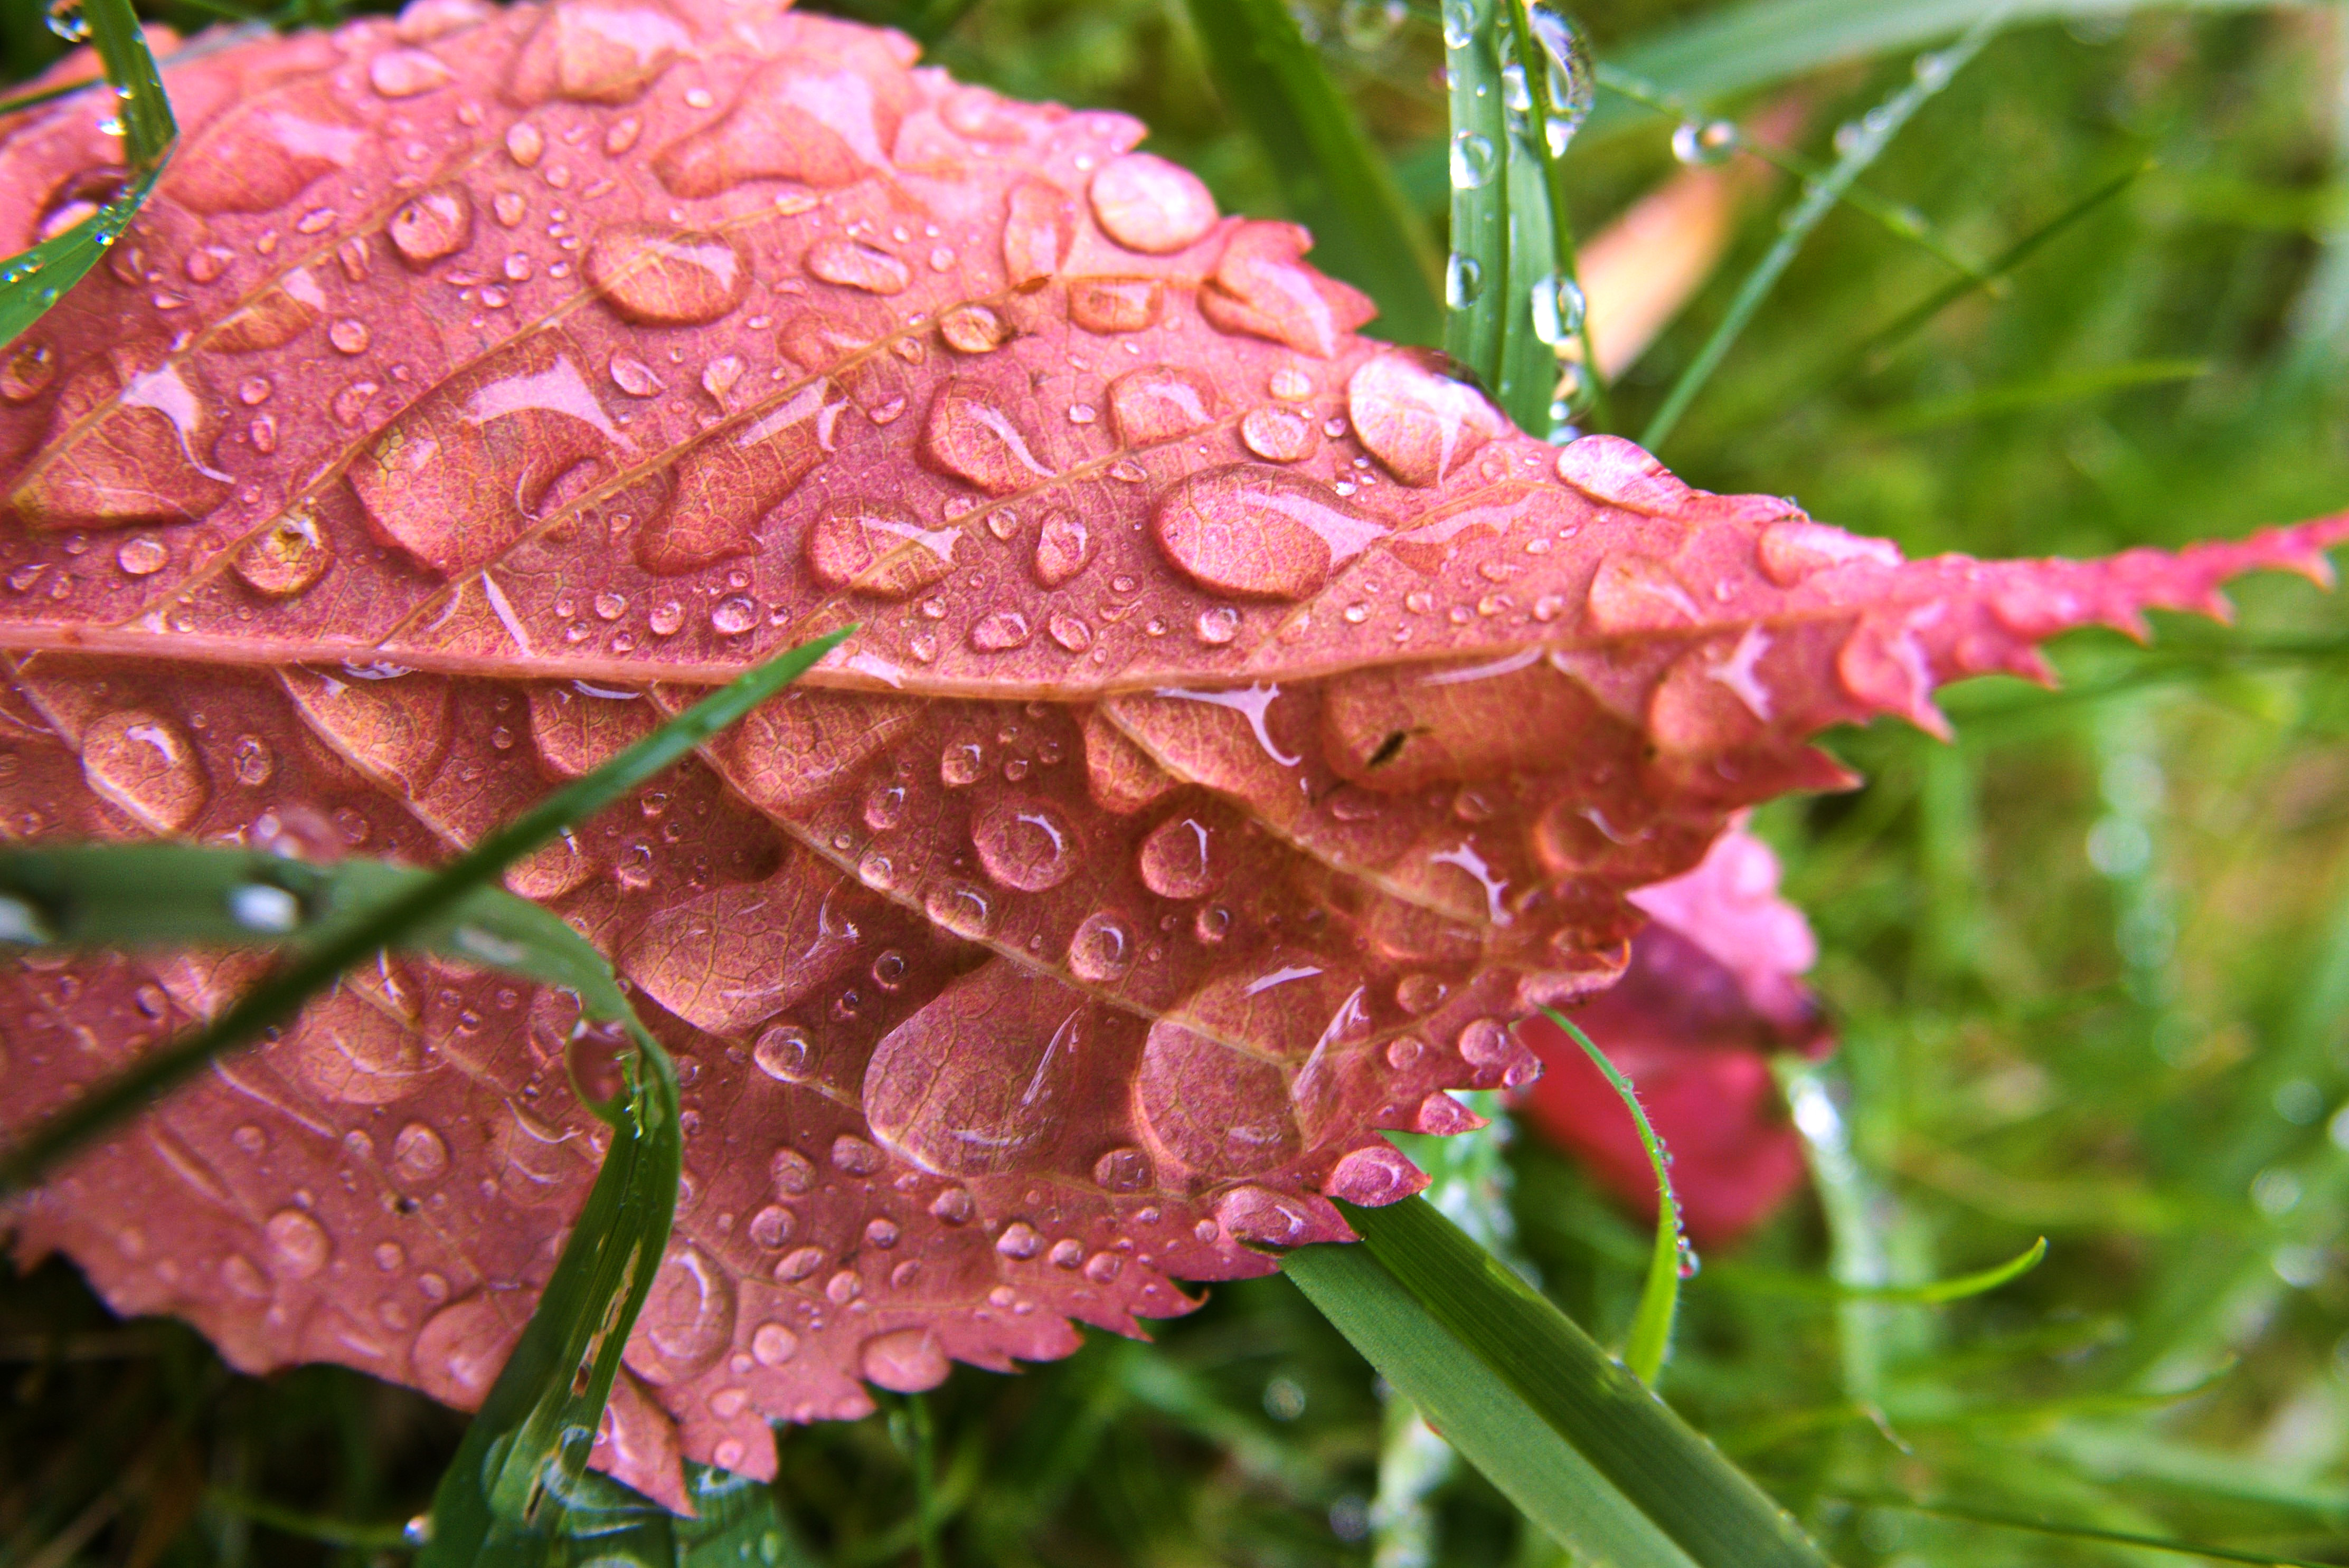
[[[1656,38],[1635,40],[1611,56],[1614,66],[1689,99],[1719,99],[1750,87],[1837,66],[1844,61],[1914,49],[1978,26],[1990,16],[2060,21],[2072,16],[2126,16],[2152,9],[2154,0],[1752,0],[1698,16]],[[2271,9],[2269,0],[2163,0],[2163,9],[2243,12]],[[1640,124],[1644,115],[1621,101],[1602,101],[1590,115],[1590,134],[1607,136]]]

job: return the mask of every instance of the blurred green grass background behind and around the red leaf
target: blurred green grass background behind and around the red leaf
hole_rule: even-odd
[[[211,0],[141,9],[218,21]],[[836,9],[907,21],[1008,94],[1130,110],[1229,209],[1280,209],[1179,0]],[[1433,9],[1292,9],[1440,246]],[[1579,16],[1609,61],[1729,9]],[[1907,216],[1818,228],[1665,444],[1677,472],[1912,554],[2178,545],[2349,505],[2349,9],[2102,9],[2018,21],[1924,108],[1863,181]],[[0,5],[9,80],[59,47],[40,5]],[[1912,56],[1708,110],[1797,87],[1799,150],[1832,162],[1835,127]],[[1672,122],[1621,110],[1602,94],[1574,146],[1583,235],[1675,171]],[[1987,265],[2135,169],[1999,289],[1882,340],[1959,277],[1936,249]],[[1640,430],[1792,195],[1748,204],[1609,427]],[[2084,1530],[2349,1561],[2349,603],[2295,580],[2239,603],[2234,629],[2163,620],[2152,648],[2065,641],[2062,692],[1961,688],[1950,746],[1830,737],[1867,786],[1762,815],[1842,1033],[1802,1084],[1823,1181],[1705,1261],[1663,1392],[1837,1561],[2180,1561]],[[1546,1289],[1621,1336],[1647,1237],[1525,1136],[1503,1176]],[[2048,1263],[1980,1300],[1835,1298],[2037,1235]],[[1283,1279],[1214,1289],[1156,1347],[961,1368],[926,1413],[956,1563],[1560,1561],[1475,1474],[1393,1437]],[[914,1561],[911,1427],[897,1406],[792,1432],[801,1540],[775,1561]],[[397,1561],[385,1528],[456,1434],[352,1373],[240,1378],[176,1324],[115,1324],[54,1263],[0,1277],[0,1568]],[[1428,1474],[1405,1483],[1412,1462]]]

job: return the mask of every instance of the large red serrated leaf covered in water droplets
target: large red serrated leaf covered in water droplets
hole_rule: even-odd
[[[655,1408],[768,1474],[766,1422],[860,1378],[1057,1357],[1346,1235],[1327,1195],[1416,1183],[1381,1127],[1459,1127],[1445,1089],[1536,1068],[1501,1021],[1621,974],[1628,890],[1844,782],[1806,735],[1933,725],[1940,681],[2342,533],[1900,563],[1550,451],[1132,120],[770,5],[416,0],[169,82],[157,200],[0,361],[12,836],[437,861],[867,627],[507,878],[688,1077],[599,1451],[655,1495]],[[0,127],[0,244],[110,155],[99,113]],[[12,965],[0,1124],[247,979]],[[240,1366],[470,1404],[594,1167],[568,1026],[385,960],[19,1246]]]

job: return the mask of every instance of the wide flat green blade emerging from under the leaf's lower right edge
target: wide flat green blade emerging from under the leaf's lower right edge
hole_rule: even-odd
[[[1360,1249],[1283,1268],[1562,1542],[1614,1563],[1823,1568],[1792,1516],[1423,1199],[1344,1214]]]

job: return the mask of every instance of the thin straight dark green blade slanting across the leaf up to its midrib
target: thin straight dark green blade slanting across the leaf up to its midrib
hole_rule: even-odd
[[[505,866],[521,859],[573,822],[592,817],[646,779],[667,770],[705,739],[759,707],[789,685],[820,657],[832,653],[855,627],[843,627],[829,636],[799,648],[747,671],[731,685],[719,688],[695,707],[686,709],[653,735],[611,758],[576,784],[554,791],[529,812],[493,831],[479,845],[453,859],[449,866],[425,876],[371,906],[362,920],[329,922],[315,941],[301,946],[284,969],[247,993],[235,1007],[195,1030],[193,1035],[150,1052],[113,1082],[103,1084],[68,1110],[59,1113],[40,1131],[0,1155],[0,1195],[23,1188],[63,1153],[78,1148],[94,1134],[136,1115],[157,1094],[164,1094],[190,1073],[200,1070],[218,1052],[242,1045],[263,1028],[284,1023],[310,998],[331,984],[343,969],[388,946],[399,946],[404,937],[428,920],[449,915],[467,894],[486,887]],[[12,934],[16,920],[28,934],[42,930],[70,930],[73,890],[66,885],[14,885],[7,876],[16,866],[35,866],[23,854],[0,857],[0,890],[14,894],[16,908],[0,906],[0,937]],[[284,861],[291,866],[296,861]],[[277,887],[280,894],[298,894],[296,887]],[[291,906],[291,908],[289,908]],[[247,937],[280,937],[287,920],[301,920],[298,897],[263,897],[258,904],[230,904],[230,913],[265,915],[256,927],[247,922]],[[272,925],[275,920],[275,925]]]

